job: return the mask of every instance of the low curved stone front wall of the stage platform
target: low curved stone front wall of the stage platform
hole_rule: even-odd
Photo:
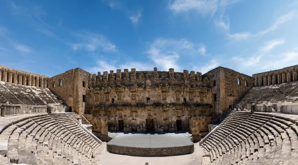
[[[114,154],[136,157],[166,157],[191,154],[194,152],[194,145],[169,148],[138,148],[107,144],[107,151]]]

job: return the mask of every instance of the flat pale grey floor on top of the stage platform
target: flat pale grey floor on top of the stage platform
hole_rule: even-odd
[[[109,145],[138,147],[138,148],[165,148],[193,145],[189,133],[109,133],[113,139]]]

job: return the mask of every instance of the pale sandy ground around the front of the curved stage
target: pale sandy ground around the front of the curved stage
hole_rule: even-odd
[[[103,142],[98,165],[201,165],[203,148],[195,143],[195,152],[188,155],[171,157],[132,157],[126,155],[111,154],[106,150],[106,143]]]

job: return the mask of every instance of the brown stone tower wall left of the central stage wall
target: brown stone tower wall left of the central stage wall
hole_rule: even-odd
[[[49,88],[68,106],[72,107],[72,111],[84,114],[85,102],[83,102],[83,95],[86,94],[89,77],[90,74],[86,71],[79,68],[72,69],[50,78]],[[85,87],[83,87],[83,82]]]

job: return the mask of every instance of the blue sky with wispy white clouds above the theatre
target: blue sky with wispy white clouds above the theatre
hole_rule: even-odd
[[[298,64],[297,0],[1,0],[0,64],[252,75]]]

